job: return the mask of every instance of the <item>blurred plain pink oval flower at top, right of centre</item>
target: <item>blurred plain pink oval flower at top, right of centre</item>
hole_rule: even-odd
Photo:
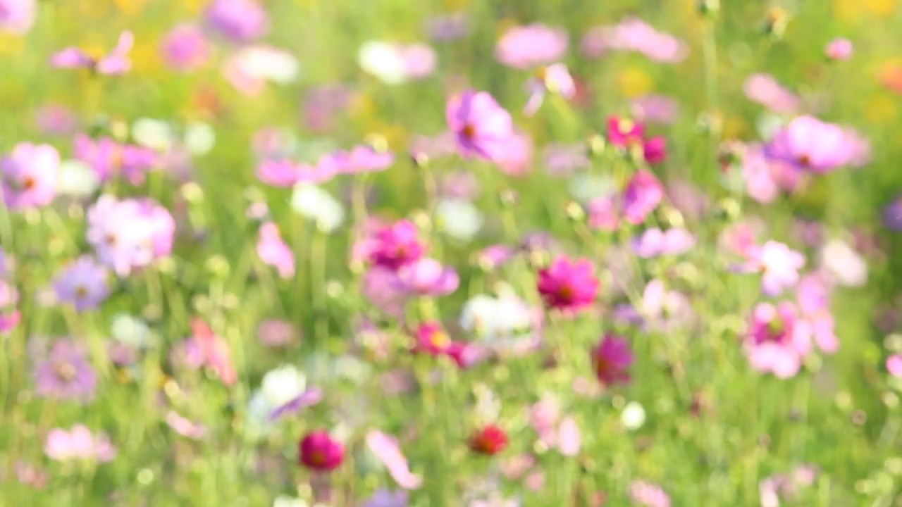
[[[495,45],[495,58],[508,67],[528,69],[560,60],[569,40],[566,30],[540,23],[511,28]]]

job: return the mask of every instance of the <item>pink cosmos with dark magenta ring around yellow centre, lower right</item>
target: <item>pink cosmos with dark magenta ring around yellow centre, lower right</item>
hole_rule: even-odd
[[[811,353],[811,328],[791,302],[760,303],[752,313],[745,347],[753,368],[789,378]]]

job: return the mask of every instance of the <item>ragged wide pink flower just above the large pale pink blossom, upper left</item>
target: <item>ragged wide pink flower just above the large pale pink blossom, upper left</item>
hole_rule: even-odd
[[[143,183],[145,174],[159,161],[156,152],[136,144],[116,143],[109,137],[75,137],[75,158],[87,163],[101,182],[122,174],[133,185]]]

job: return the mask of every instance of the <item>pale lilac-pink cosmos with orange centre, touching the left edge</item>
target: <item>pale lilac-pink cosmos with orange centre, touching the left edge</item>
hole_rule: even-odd
[[[46,206],[56,197],[60,153],[48,144],[19,143],[0,160],[0,189],[13,210]]]

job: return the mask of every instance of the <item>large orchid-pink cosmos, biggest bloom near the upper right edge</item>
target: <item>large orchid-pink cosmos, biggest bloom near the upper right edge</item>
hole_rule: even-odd
[[[805,171],[824,173],[849,163],[854,145],[841,126],[798,116],[774,135],[766,152]]]

